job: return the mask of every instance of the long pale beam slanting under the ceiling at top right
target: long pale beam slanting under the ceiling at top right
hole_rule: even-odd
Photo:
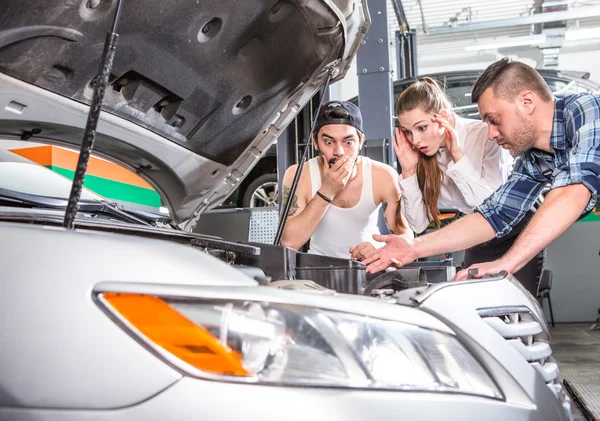
[[[458,32],[484,31],[486,29],[508,28],[521,25],[535,25],[539,23],[557,22],[562,20],[584,19],[600,16],[600,6],[578,7],[560,12],[537,13],[530,16],[521,16],[512,19],[488,20],[482,22],[465,23],[463,25],[438,26],[427,28],[427,35],[444,35]]]

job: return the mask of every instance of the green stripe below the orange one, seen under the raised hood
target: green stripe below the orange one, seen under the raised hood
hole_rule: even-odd
[[[72,180],[75,171],[67,170],[60,167],[48,166],[47,168],[57,172],[63,177]],[[86,175],[83,186],[107,199],[121,200],[124,202],[138,203],[140,205],[152,206],[158,208],[160,206],[160,196],[154,190],[145,189],[143,187],[133,186],[131,184],[121,183],[119,181],[109,180],[94,175]]]

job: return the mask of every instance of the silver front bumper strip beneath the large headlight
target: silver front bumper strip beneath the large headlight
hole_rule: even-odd
[[[0,408],[0,420],[557,420],[542,408],[457,394],[289,388],[183,378],[135,406],[109,411]]]

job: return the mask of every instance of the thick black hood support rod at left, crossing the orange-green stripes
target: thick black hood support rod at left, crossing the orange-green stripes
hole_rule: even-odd
[[[77,216],[79,199],[81,198],[81,191],[83,189],[83,182],[85,180],[85,173],[87,172],[88,161],[92,154],[92,150],[94,149],[96,127],[98,126],[98,120],[100,118],[102,100],[104,98],[106,87],[108,86],[108,78],[110,76],[110,70],[112,69],[117,41],[119,39],[119,34],[117,34],[116,31],[121,16],[122,3],[123,0],[117,0],[117,10],[113,19],[112,28],[107,33],[106,41],[104,42],[104,51],[102,52],[102,58],[100,60],[100,69],[91,83],[94,87],[94,94],[90,103],[90,110],[85,125],[85,131],[83,133],[77,168],[75,169],[75,176],[73,177],[73,184],[71,185],[71,194],[69,195],[69,202],[63,221],[63,227],[67,229],[73,229],[75,217]]]

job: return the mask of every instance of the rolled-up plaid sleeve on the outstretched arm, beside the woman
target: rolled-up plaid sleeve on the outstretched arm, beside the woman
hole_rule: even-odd
[[[476,208],[494,229],[496,237],[503,237],[516,226],[538,197],[544,183],[522,172],[520,165],[506,183]]]

